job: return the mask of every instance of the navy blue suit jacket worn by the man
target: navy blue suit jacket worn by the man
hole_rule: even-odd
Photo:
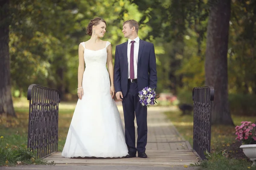
[[[114,64],[114,86],[116,92],[122,91],[123,97],[128,90],[128,42],[116,46]],[[137,62],[138,90],[145,87],[157,88],[157,66],[154,44],[140,39]]]

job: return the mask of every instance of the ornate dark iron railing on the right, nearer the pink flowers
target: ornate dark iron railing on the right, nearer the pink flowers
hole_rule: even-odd
[[[204,152],[211,150],[211,112],[214,100],[214,88],[196,87],[192,92],[194,101],[193,150],[201,159],[206,159]]]

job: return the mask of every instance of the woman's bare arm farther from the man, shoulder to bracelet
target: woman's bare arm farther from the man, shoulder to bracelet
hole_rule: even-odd
[[[84,47],[80,43],[78,48],[78,55],[79,55],[79,65],[78,65],[78,86],[77,88],[82,87],[82,79],[84,74]]]

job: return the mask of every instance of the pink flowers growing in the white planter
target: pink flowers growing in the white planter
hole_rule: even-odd
[[[243,144],[256,144],[256,125],[251,122],[241,122],[241,126],[236,126],[236,140]]]

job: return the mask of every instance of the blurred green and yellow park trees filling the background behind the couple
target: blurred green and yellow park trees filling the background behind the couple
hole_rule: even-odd
[[[9,55],[0,54],[0,66],[10,76],[0,74],[1,90],[9,77],[14,98],[39,84],[58,89],[62,101],[77,100],[78,45],[90,38],[86,27],[94,17],[107,22],[103,40],[112,43],[113,57],[126,41],[123,21],[140,23],[139,37],[155,45],[157,93],[191,104],[194,87],[212,85],[219,115],[213,123],[233,124],[230,114],[256,115],[255,0],[2,0],[0,30],[9,29],[9,39],[1,32],[0,48],[8,43]],[[8,56],[9,68],[2,65]],[[0,113],[3,101],[1,95]]]

